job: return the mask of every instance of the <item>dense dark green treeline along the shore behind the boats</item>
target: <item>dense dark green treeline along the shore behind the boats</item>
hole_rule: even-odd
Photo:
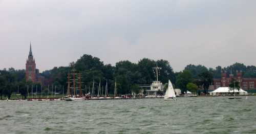
[[[44,76],[50,86],[54,85],[57,88],[57,92],[61,92],[63,88],[67,88],[67,74],[74,68],[77,72],[82,74],[83,88],[90,86],[92,88],[93,80],[97,86],[99,82],[101,85],[105,85],[108,81],[110,94],[113,94],[114,83],[117,81],[118,94],[131,94],[131,91],[138,92],[140,90],[140,84],[150,84],[156,79],[153,72],[153,67],[161,67],[159,80],[163,83],[167,83],[168,79],[172,81],[176,88],[181,88],[182,92],[190,90],[196,92],[199,88],[203,89],[207,93],[209,85],[214,78],[220,78],[221,72],[225,71],[229,75],[230,71],[236,76],[236,71],[242,71],[243,77],[256,78],[256,66],[246,66],[242,63],[234,63],[233,65],[222,68],[217,66],[216,69],[207,69],[203,65],[189,64],[181,72],[174,72],[172,66],[167,60],[152,60],[143,58],[138,63],[132,63],[130,61],[119,61],[115,66],[111,64],[104,64],[99,58],[91,55],[83,55],[76,62],[72,62],[71,66],[54,67],[52,70],[42,72],[40,75]],[[0,70],[0,95],[10,98],[13,92],[27,97],[28,88],[40,87],[39,83],[32,83],[25,81],[25,70],[15,70],[10,68],[8,70]],[[53,86],[52,86],[53,87]],[[44,93],[47,92],[48,85],[42,86]],[[32,92],[32,91],[30,91]],[[84,90],[85,92],[85,90]]]

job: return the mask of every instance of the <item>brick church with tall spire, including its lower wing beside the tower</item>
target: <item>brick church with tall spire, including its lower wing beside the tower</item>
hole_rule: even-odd
[[[35,59],[32,53],[30,43],[29,56],[26,62],[26,81],[39,82],[41,84],[44,84],[44,80],[45,78],[43,76],[40,76],[39,71],[36,70]]]

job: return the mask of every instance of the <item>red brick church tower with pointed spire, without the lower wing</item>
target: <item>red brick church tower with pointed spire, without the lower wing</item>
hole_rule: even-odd
[[[31,42],[29,56],[26,63],[26,81],[36,82],[35,59],[32,54]]]

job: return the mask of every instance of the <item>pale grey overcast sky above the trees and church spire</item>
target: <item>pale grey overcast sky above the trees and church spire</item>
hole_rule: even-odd
[[[0,0],[0,69],[41,71],[83,54],[105,64],[143,57],[215,68],[256,65],[256,1]]]

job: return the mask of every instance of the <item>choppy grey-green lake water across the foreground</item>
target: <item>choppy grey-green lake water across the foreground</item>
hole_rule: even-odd
[[[1,133],[256,133],[256,97],[0,101]]]

